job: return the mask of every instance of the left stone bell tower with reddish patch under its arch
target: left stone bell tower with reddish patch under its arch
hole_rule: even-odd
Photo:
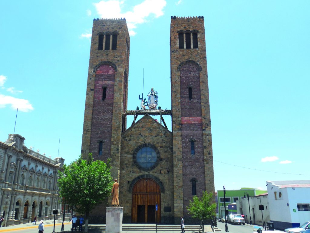
[[[126,19],[94,19],[91,35],[82,151],[95,160],[112,159],[119,179],[122,130],[127,110],[130,38]],[[104,211],[105,212],[105,211]]]

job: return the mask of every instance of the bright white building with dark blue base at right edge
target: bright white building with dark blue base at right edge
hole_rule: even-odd
[[[310,180],[267,181],[271,222],[277,229],[310,221]]]

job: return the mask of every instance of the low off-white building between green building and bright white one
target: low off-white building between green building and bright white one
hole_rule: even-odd
[[[250,201],[250,211],[249,211],[249,201]],[[260,194],[257,196],[242,197],[241,200],[237,200],[237,213],[245,215],[245,221],[250,223],[250,217],[252,224],[263,226],[263,222],[270,222],[269,214],[269,204],[268,204],[268,194]],[[263,206],[263,210],[259,210],[259,206]]]

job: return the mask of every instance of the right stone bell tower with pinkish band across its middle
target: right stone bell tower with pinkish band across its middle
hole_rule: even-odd
[[[193,195],[214,192],[203,16],[171,16],[170,67],[174,211],[178,222],[183,215],[188,216],[186,206]]]

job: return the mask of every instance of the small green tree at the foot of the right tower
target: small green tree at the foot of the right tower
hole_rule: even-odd
[[[193,216],[193,218],[201,220],[214,219],[216,217],[215,213],[216,203],[213,193],[208,193],[204,191],[202,197],[198,198],[193,196],[193,201],[189,201],[187,207],[188,212]]]

